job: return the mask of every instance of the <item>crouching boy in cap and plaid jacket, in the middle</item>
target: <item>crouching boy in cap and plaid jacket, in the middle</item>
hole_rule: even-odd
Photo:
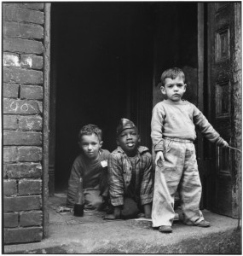
[[[136,218],[140,211],[145,213],[145,218],[151,218],[152,156],[148,148],[139,143],[134,123],[120,119],[118,148],[108,159],[109,193],[114,213],[107,218]]]

